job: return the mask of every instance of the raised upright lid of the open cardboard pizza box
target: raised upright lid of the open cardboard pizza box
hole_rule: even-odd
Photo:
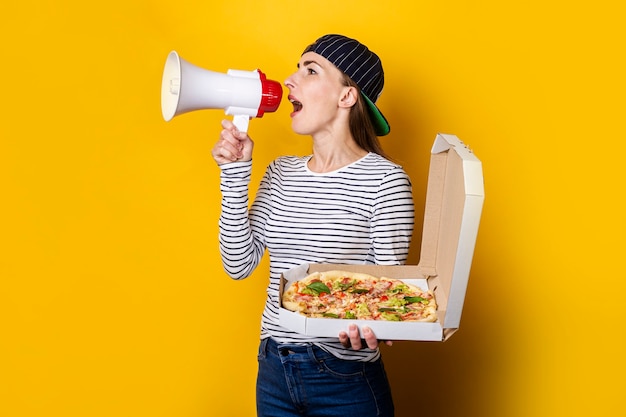
[[[419,270],[447,299],[444,327],[458,328],[484,200],[482,164],[456,136],[431,151]],[[445,221],[444,221],[445,219]]]

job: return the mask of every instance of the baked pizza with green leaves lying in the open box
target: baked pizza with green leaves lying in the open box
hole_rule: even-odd
[[[437,320],[432,291],[399,279],[348,271],[314,272],[294,281],[283,307],[313,318],[356,320]]]

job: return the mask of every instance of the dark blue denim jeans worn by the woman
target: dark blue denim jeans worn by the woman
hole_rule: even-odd
[[[314,345],[259,347],[256,402],[259,417],[393,417],[382,359],[336,358]]]

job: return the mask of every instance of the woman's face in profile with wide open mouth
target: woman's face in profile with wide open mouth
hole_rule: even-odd
[[[291,126],[302,135],[332,132],[338,123],[342,96],[347,87],[342,72],[323,56],[307,52],[298,62],[298,70],[285,80],[289,101],[293,104]]]

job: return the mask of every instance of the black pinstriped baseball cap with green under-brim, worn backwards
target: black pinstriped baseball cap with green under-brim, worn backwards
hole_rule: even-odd
[[[324,35],[307,46],[302,54],[307,52],[323,56],[359,86],[376,134],[388,134],[391,130],[389,123],[375,104],[385,83],[378,55],[359,41],[343,35]]]

